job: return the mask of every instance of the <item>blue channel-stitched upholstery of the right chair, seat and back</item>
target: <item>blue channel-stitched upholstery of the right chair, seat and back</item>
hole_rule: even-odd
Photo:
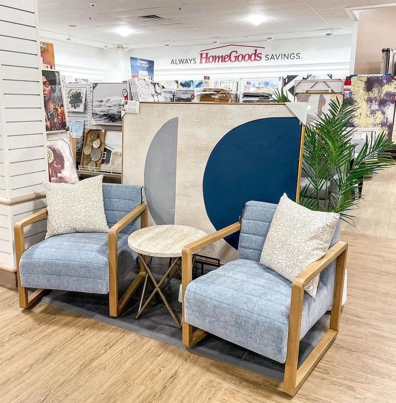
[[[186,322],[258,354],[285,362],[291,282],[259,263],[276,204],[246,203],[239,259],[186,289]],[[339,231],[332,244],[339,238]],[[332,304],[335,264],[323,270],[316,298],[304,294],[302,338]]]

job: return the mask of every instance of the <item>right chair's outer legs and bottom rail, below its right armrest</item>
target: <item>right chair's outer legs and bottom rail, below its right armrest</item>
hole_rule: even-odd
[[[284,392],[290,396],[294,396],[300,389],[309,374],[315,368],[316,364],[320,361],[324,353],[337,337],[340,326],[342,291],[344,288],[347,252],[348,248],[346,248],[337,258],[330,328],[299,368],[297,366],[300,347],[301,316],[304,302],[304,287],[292,287],[287,356],[283,383]]]

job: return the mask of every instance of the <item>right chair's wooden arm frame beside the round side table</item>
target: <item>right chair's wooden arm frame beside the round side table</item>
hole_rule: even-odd
[[[206,336],[206,332],[199,329],[195,332],[192,331],[192,326],[184,320],[184,293],[188,286],[188,283],[192,281],[192,255],[205,246],[211,245],[219,239],[225,238],[228,235],[234,234],[241,229],[241,222],[237,222],[229,225],[219,231],[213,232],[203,238],[196,240],[188,245],[185,245],[182,250],[182,327],[183,327],[183,344],[187,347],[192,347],[198,343],[203,337]]]

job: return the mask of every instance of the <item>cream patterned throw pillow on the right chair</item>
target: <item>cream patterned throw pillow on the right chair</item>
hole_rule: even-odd
[[[260,263],[292,281],[327,252],[339,219],[340,214],[309,210],[283,194],[262,248]],[[305,290],[315,297],[318,284],[319,275]]]

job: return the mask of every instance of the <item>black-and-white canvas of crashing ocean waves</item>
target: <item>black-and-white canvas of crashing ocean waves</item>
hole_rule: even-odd
[[[121,125],[123,93],[128,94],[126,82],[93,83],[92,118],[97,125]]]

